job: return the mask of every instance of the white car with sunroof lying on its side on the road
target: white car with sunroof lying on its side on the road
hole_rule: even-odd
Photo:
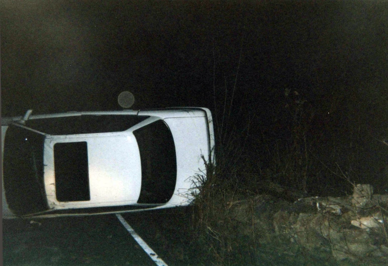
[[[2,118],[3,218],[188,205],[214,145],[200,107]]]

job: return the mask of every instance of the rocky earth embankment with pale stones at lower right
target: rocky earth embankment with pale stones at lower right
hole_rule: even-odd
[[[281,241],[337,261],[388,265],[388,195],[357,185],[349,197],[309,197],[294,203],[259,195],[231,202],[238,234],[261,245]],[[290,248],[292,250],[292,248]]]

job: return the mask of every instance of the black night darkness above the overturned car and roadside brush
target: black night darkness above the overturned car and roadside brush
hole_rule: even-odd
[[[208,107],[232,134],[249,121],[264,164],[262,144],[304,119],[315,155],[363,147],[361,175],[388,175],[384,1],[3,0],[0,15],[2,116],[120,110],[129,90],[133,109]]]

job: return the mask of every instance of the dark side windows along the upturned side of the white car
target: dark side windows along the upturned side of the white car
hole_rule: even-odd
[[[124,131],[149,116],[75,115],[27,120],[25,125],[49,135],[71,135]]]

